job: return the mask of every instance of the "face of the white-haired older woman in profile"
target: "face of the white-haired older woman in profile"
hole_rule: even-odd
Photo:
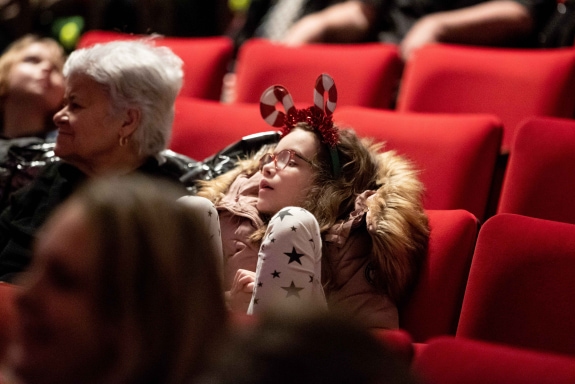
[[[85,75],[66,84],[64,107],[54,115],[58,127],[55,153],[64,160],[98,164],[118,149],[122,114],[112,112],[103,87]]]

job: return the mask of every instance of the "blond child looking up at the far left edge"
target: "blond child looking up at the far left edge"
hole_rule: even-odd
[[[64,50],[53,39],[25,35],[0,56],[0,207],[33,178],[27,166],[55,138],[52,116],[64,97]]]

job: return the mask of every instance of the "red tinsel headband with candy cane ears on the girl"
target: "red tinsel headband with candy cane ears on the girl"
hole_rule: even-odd
[[[327,100],[325,94],[327,93]],[[273,85],[266,89],[260,98],[262,117],[272,127],[282,130],[282,136],[287,135],[297,123],[307,123],[319,134],[320,141],[329,148],[332,172],[338,177],[341,172],[337,144],[339,132],[333,125],[332,115],[337,104],[337,88],[331,76],[321,74],[315,81],[313,91],[314,105],[305,109],[296,109],[293,99],[281,85]],[[281,103],[285,112],[278,111],[276,105]]]

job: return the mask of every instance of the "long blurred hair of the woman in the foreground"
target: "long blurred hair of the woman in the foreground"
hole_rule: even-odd
[[[221,255],[205,241],[204,212],[177,203],[174,188],[103,179],[71,199],[99,244],[96,306],[120,327],[112,358],[124,382],[188,382],[225,326]]]

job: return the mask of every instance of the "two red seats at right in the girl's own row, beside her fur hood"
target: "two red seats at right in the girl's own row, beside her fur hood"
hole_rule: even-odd
[[[466,215],[467,214],[467,215]],[[415,342],[439,335],[575,355],[575,225],[429,211],[430,249],[402,309]]]

